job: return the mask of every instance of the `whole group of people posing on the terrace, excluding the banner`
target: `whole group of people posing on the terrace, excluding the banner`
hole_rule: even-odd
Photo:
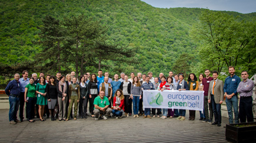
[[[108,117],[122,118],[134,114],[134,118],[143,115],[143,118],[159,117],[174,118],[184,121],[186,110],[172,108],[143,108],[143,90],[199,90],[204,91],[204,111],[200,111],[200,120],[212,125],[221,126],[221,104],[224,101],[227,105],[229,122],[233,123],[233,109],[235,123],[253,122],[252,114],[252,89],[254,82],[248,79],[247,71],[242,71],[241,77],[235,74],[235,67],[228,67],[230,76],[225,82],[218,79],[218,72],[205,70],[205,75],[197,76],[194,73],[188,75],[188,80],[184,80],[184,74],[173,74],[169,71],[168,77],[163,73],[159,77],[152,77],[152,72],[147,74],[135,73],[128,75],[121,73],[114,75],[114,80],[109,78],[108,72],[102,76],[102,70],[96,74],[85,73],[79,79],[75,72],[66,76],[56,73],[55,76],[33,73],[28,78],[28,71],[14,75],[14,80],[10,81],[5,88],[5,93],[9,96],[9,121],[10,124],[22,122],[24,120],[24,104],[26,103],[26,118],[29,122],[35,122],[36,116],[40,121],[45,121],[51,115],[51,120],[68,121],[74,117],[77,120],[77,112],[81,118],[87,118],[87,107],[89,103],[89,114],[99,118]],[[238,93],[240,93],[240,110],[238,113]],[[36,105],[36,106],[35,106]],[[132,108],[133,106],[133,108]],[[74,107],[74,108],[73,108]],[[19,109],[18,120],[17,112]],[[157,110],[157,113],[156,113]],[[74,116],[73,116],[74,111]],[[55,116],[56,113],[56,116]],[[151,117],[152,113],[152,117]],[[210,114],[209,114],[210,113]],[[212,119],[214,117],[214,122]],[[189,110],[188,120],[195,120],[195,110]]]

